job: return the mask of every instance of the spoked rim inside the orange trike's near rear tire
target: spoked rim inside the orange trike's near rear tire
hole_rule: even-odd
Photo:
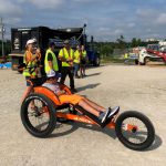
[[[34,103],[35,108],[31,108],[32,102]],[[49,107],[39,98],[31,100],[27,107],[25,120],[30,128],[38,133],[44,132],[51,120]]]

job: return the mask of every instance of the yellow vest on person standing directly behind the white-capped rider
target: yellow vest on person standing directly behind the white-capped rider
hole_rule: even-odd
[[[51,70],[51,68],[49,65],[49,61],[48,61],[49,53],[51,53],[51,55],[52,55],[53,70],[54,71],[59,71],[58,59],[56,59],[55,54],[53,53],[53,51],[51,51],[51,49],[48,49],[46,50],[46,54],[45,54],[45,60],[44,60],[44,65],[45,65],[44,70],[45,70],[45,73],[48,73]]]

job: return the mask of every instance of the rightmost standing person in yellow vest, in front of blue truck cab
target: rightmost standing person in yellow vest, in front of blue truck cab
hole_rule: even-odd
[[[80,75],[81,77],[86,76],[85,75],[85,68],[86,68],[86,61],[87,61],[87,53],[84,48],[84,45],[81,46],[82,55],[81,55],[81,62],[80,62]]]

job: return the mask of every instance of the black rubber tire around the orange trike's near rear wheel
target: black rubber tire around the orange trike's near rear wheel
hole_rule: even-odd
[[[33,111],[31,115],[29,115],[29,105],[32,101],[40,101],[41,102],[41,107],[45,106],[46,112],[44,111]],[[42,108],[41,108],[42,110]],[[42,116],[46,114],[46,117],[49,117],[48,126],[43,129],[40,131],[38,127],[43,127],[46,123],[44,122],[43,124],[39,124],[38,126],[33,126],[32,122],[30,121],[29,116],[34,116],[34,118],[39,118],[41,121]],[[38,120],[38,121],[39,121]],[[25,129],[33,136],[35,137],[46,137],[49,136],[53,129],[55,128],[56,125],[56,117],[55,117],[55,106],[53,102],[44,96],[43,94],[39,93],[33,93],[30,94],[22,103],[21,105],[21,121]]]

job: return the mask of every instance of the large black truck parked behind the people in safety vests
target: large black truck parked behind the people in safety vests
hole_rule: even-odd
[[[87,50],[86,34],[84,28],[66,28],[66,29],[50,29],[48,27],[33,28],[14,28],[11,29],[11,56],[12,70],[18,70],[18,66],[23,63],[25,43],[29,39],[37,39],[38,45],[41,49],[41,63],[44,64],[44,55],[48,49],[49,41],[53,41],[56,45],[55,54],[59,54],[63,46],[64,40],[70,40],[71,46],[76,48],[77,44],[84,44]],[[90,64],[100,65],[100,54],[93,50],[87,50]]]

